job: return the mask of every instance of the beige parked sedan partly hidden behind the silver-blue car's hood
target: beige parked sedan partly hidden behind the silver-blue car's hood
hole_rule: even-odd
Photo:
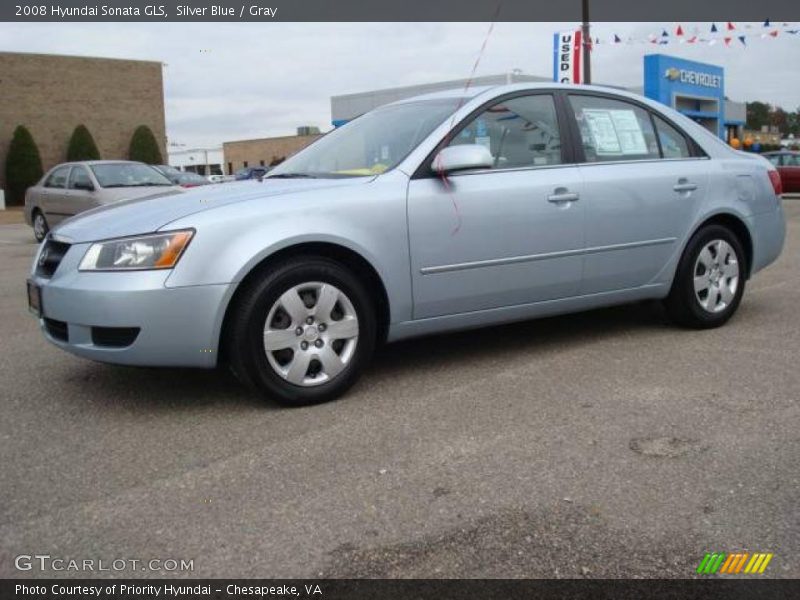
[[[42,241],[51,227],[78,213],[128,198],[181,191],[140,162],[90,160],[56,165],[25,193],[25,221]]]

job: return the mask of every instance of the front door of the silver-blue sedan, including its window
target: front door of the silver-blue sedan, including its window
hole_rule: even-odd
[[[495,101],[447,144],[488,147],[493,168],[443,177],[429,160],[412,178],[416,319],[577,293],[584,219],[577,167],[562,144],[562,110],[550,93]]]

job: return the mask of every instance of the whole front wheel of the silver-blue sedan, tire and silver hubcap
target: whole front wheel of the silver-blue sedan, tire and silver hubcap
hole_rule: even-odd
[[[375,310],[364,285],[340,264],[298,257],[237,296],[226,334],[240,380],[289,406],[333,400],[372,357]]]

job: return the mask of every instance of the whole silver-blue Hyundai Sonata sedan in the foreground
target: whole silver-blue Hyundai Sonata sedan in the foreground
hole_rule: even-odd
[[[643,299],[721,325],[781,252],[778,186],[763,158],[633,94],[454,90],[365,114],[262,182],[71,219],[28,295],[74,354],[227,364],[309,404],[383,341]]]

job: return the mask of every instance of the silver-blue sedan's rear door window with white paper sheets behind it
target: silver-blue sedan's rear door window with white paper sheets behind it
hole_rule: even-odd
[[[650,114],[622,100],[569,97],[587,162],[661,158]]]

